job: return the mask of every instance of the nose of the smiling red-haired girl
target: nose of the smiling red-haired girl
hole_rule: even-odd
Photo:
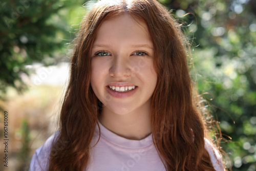
[[[129,77],[131,75],[129,61],[122,56],[115,57],[109,72],[115,78]]]

